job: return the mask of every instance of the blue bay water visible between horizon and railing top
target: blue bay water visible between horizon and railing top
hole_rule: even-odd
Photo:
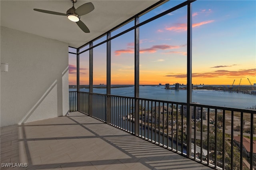
[[[186,103],[187,91],[186,90],[172,90],[164,89],[161,86],[140,86],[140,98],[156,99],[163,101],[183,102]],[[75,91],[76,89],[70,89]],[[88,92],[89,89],[80,89],[80,91]],[[106,94],[106,89],[93,89],[94,93]],[[111,89],[112,95],[134,97],[134,86],[113,88]],[[192,102],[198,102],[202,105],[212,105],[221,107],[233,107],[239,109],[252,108],[256,106],[256,95],[235,93],[228,91],[215,91],[215,90],[192,90]]]

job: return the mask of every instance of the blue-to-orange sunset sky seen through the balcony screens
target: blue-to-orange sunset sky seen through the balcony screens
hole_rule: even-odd
[[[169,1],[140,22],[183,1]],[[256,83],[256,1],[198,0],[192,3],[192,83]],[[140,84],[186,84],[186,6],[140,27]],[[133,22],[121,29],[127,29]],[[118,31],[118,30],[117,30]],[[115,32],[112,33],[112,35]],[[111,41],[111,84],[134,84],[134,31]],[[93,84],[106,84],[106,44],[96,47]],[[80,55],[80,84],[89,84],[89,53]],[[76,84],[76,57],[69,56]]]

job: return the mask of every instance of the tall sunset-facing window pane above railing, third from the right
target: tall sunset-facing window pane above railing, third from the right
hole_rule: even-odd
[[[111,94],[134,97],[134,30],[111,40],[111,47]]]

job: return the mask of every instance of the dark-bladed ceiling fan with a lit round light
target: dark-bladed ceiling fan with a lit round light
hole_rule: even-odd
[[[60,12],[54,12],[54,11],[48,11],[48,10],[40,10],[40,9],[34,9],[38,12],[44,12],[47,14],[54,14],[54,15],[62,15],[67,16],[69,20],[76,22],[76,24],[81,28],[81,30],[85,33],[89,33],[90,30],[88,27],[80,20],[80,16],[88,14],[92,10],[94,10],[94,6],[92,2],[85,3],[81,6],[79,6],[77,9],[74,7],[74,3],[77,2],[77,0],[71,0],[73,3],[73,6],[67,10],[66,14],[60,13]]]

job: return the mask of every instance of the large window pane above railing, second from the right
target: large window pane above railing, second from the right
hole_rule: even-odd
[[[140,97],[186,102],[186,15],[183,7],[140,27]]]

